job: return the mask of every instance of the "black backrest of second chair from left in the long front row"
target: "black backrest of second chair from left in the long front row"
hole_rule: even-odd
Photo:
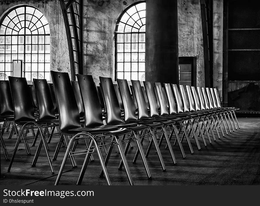
[[[85,126],[97,127],[103,125],[102,108],[93,77],[77,74],[77,79],[85,113]]]

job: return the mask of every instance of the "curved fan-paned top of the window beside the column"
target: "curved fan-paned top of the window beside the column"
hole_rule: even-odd
[[[137,4],[128,7],[118,20],[116,32],[145,32],[145,8],[145,2],[137,2]]]

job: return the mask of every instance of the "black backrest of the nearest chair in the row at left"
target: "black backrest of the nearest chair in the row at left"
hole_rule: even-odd
[[[35,121],[34,107],[26,79],[13,76],[8,76],[8,79],[14,103],[15,123]]]

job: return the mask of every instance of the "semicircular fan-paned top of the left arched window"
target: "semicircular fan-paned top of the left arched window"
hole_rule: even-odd
[[[1,21],[0,33],[5,35],[49,34],[47,19],[38,9],[23,5],[11,9]]]

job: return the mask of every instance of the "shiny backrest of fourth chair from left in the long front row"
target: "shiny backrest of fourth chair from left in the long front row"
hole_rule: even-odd
[[[116,79],[124,106],[125,122],[136,121],[134,101],[126,79]]]

